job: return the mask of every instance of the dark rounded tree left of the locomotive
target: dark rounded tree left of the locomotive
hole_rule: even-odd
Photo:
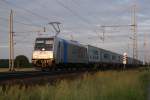
[[[16,56],[14,63],[15,63],[15,67],[29,67],[30,66],[29,59],[24,55]]]

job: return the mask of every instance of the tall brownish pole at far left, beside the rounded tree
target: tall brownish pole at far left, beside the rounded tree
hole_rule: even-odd
[[[13,10],[10,12],[9,28],[9,71],[14,71]]]

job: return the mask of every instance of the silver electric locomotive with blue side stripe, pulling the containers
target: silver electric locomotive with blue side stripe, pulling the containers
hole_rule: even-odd
[[[88,63],[87,48],[58,37],[36,38],[32,64],[40,69],[55,69]]]

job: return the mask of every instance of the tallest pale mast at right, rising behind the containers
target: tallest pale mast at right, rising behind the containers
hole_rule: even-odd
[[[134,63],[137,62],[135,59],[138,59],[138,43],[137,43],[137,22],[136,22],[136,5],[132,8],[132,30],[133,30],[133,59]]]

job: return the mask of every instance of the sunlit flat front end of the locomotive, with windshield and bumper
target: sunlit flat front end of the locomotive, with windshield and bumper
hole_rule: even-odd
[[[54,38],[36,38],[32,64],[39,68],[51,67],[54,60]]]

